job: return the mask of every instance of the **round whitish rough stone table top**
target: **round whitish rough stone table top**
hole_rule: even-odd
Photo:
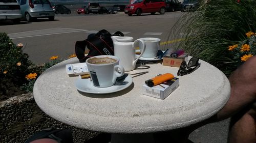
[[[132,85],[120,92],[96,95],[78,92],[75,80],[66,73],[63,61],[41,74],[34,84],[37,105],[52,118],[93,131],[109,133],[150,133],[186,127],[215,115],[227,102],[230,84],[216,67],[204,62],[195,72],[177,76],[179,68],[146,64],[131,72]],[[144,69],[142,69],[144,68]],[[172,73],[179,87],[164,100],[142,94],[142,84],[158,74]],[[134,76],[134,75],[130,75]]]

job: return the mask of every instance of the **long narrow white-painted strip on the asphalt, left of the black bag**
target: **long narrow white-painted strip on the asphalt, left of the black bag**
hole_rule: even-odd
[[[27,31],[20,33],[12,33],[8,34],[11,39],[18,38],[27,38],[27,37],[36,37],[36,36],[46,36],[46,35],[55,35],[55,34],[64,34],[64,33],[74,33],[74,32],[83,32],[88,30],[80,30],[74,28],[49,28],[44,30],[35,30],[35,31]]]

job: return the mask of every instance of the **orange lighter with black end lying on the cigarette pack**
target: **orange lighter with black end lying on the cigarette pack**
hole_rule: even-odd
[[[174,75],[173,74],[170,74],[170,73],[165,73],[165,74],[162,74],[162,75],[159,75],[159,76],[156,76],[154,78],[151,78],[151,79],[148,79],[145,81],[146,85],[148,87],[154,87],[155,85],[158,85],[160,83],[163,83],[167,80],[171,80],[174,78]]]

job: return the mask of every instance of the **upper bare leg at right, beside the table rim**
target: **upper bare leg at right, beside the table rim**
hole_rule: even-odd
[[[227,119],[256,100],[256,56],[251,57],[229,77],[231,94],[227,104],[217,114],[217,120]]]

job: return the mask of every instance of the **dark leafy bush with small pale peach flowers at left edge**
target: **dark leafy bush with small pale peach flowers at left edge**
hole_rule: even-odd
[[[20,92],[18,87],[27,82],[24,77],[32,65],[28,58],[23,44],[15,45],[6,33],[0,33],[0,96]]]

